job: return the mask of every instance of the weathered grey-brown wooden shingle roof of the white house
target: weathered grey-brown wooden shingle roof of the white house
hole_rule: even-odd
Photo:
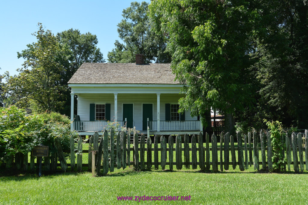
[[[68,83],[180,84],[170,63],[83,63]]]

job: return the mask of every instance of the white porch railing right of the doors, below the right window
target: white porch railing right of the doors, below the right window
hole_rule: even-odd
[[[200,121],[160,121],[160,131],[171,130],[198,130],[200,131]]]

